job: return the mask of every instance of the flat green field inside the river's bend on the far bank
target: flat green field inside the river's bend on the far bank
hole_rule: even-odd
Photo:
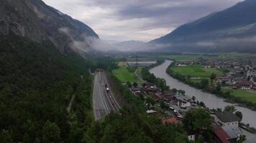
[[[175,73],[191,77],[210,78],[212,73],[217,76],[222,75],[222,72],[217,69],[204,69],[202,66],[174,66],[172,69]]]

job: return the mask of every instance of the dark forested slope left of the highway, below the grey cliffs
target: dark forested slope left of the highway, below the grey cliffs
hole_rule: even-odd
[[[88,63],[80,56],[63,56],[47,41],[0,36],[0,65],[2,142],[68,140],[72,126],[66,107],[73,94],[83,103],[73,111],[81,114],[77,119],[86,121],[92,77]],[[81,92],[83,99],[79,98]]]

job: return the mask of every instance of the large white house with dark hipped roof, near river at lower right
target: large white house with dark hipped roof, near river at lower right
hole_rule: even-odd
[[[217,122],[221,127],[224,126],[239,126],[241,119],[232,112],[216,112],[214,121]]]

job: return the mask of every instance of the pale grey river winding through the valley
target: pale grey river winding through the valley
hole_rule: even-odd
[[[160,66],[156,66],[155,68],[150,69],[150,73],[155,74],[156,77],[165,79],[166,84],[170,86],[170,88],[182,89],[186,92],[186,94],[188,94],[188,96],[195,96],[199,102],[204,102],[204,104],[206,104],[206,107],[209,107],[209,109],[224,109],[224,107],[226,107],[227,105],[236,106],[235,104],[224,102],[224,99],[216,97],[214,94],[202,92],[199,89],[190,87],[187,84],[183,84],[183,82],[179,82],[177,79],[173,79],[173,77],[170,77],[165,71],[171,62],[172,61],[166,60],[165,63],[161,64]],[[256,112],[244,107],[236,106],[236,109],[237,111],[242,112],[243,123],[250,124],[251,127],[256,127]]]

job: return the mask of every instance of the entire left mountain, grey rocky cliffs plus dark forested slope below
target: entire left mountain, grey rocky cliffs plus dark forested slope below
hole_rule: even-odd
[[[83,139],[93,77],[73,44],[91,38],[99,36],[40,0],[0,1],[0,142]]]

